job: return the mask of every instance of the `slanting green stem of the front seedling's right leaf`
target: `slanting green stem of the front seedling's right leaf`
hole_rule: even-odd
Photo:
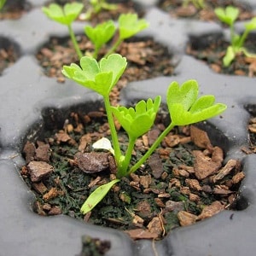
[[[161,141],[166,137],[166,135],[172,130],[172,128],[175,126],[175,124],[171,123],[166,127],[166,130],[163,131],[160,134],[160,137],[156,139],[156,141],[153,143],[153,145],[148,149],[146,154],[143,155],[143,157],[137,161],[137,163],[131,167],[130,171],[128,174],[131,174],[132,172],[136,172],[137,169],[143,165],[143,163],[148,159],[148,157],[153,154],[154,150],[160,145]]]

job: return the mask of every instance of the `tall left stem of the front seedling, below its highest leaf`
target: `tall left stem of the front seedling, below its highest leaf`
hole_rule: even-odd
[[[119,139],[117,136],[117,132],[115,130],[115,126],[114,126],[114,122],[113,122],[113,114],[112,111],[110,110],[111,106],[110,106],[110,102],[109,102],[109,97],[108,96],[103,96],[104,99],[104,104],[105,104],[105,108],[106,108],[106,112],[107,112],[107,116],[108,116],[108,125],[109,125],[109,129],[111,132],[111,137],[112,137],[112,143],[113,143],[113,150],[114,150],[114,158],[116,160],[116,164],[118,166],[118,169],[121,166],[121,149],[119,147]]]

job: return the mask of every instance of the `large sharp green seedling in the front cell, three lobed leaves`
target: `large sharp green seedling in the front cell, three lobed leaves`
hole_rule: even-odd
[[[97,62],[96,59],[84,56],[80,60],[80,66],[71,64],[64,66],[62,73],[69,79],[73,79],[78,84],[83,85],[90,90],[99,93],[104,100],[105,109],[108,116],[108,124],[111,131],[113,148],[107,138],[94,144],[95,148],[108,149],[113,153],[117,165],[117,178],[110,183],[98,187],[84,202],[81,212],[84,214],[90,212],[96,207],[102,198],[107,195],[109,189],[115,183],[118,183],[122,177],[136,172],[148,157],[159,147],[166,135],[172,131],[176,125],[190,125],[205,119],[212,118],[219,113],[223,113],[227,108],[222,103],[215,103],[214,96],[198,97],[199,87],[195,80],[188,80],[182,85],[172,82],[166,93],[166,104],[169,109],[172,122],[166,127],[153,145],[142,156],[140,160],[131,166],[131,152],[138,137],[148,132],[160,108],[160,96],[155,96],[154,100],[149,98],[147,101],[137,102],[134,108],[124,106],[113,107],[109,101],[109,93],[113,86],[118,82],[120,76],[124,73],[127,61],[125,57],[118,54],[111,54],[107,58],[102,58]],[[119,147],[118,134],[115,129],[114,119],[119,121],[128,135],[129,142],[125,154]]]

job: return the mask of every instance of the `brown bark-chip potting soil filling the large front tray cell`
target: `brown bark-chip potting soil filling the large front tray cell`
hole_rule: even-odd
[[[161,116],[154,128],[137,141],[131,164],[164,130],[166,118]],[[90,193],[115,178],[113,162],[106,164],[106,155],[102,172],[95,168],[90,173],[83,171],[83,154],[90,153],[92,143],[109,138],[109,134],[102,110],[85,115],[71,113],[63,129],[48,131],[37,142],[26,143],[26,166],[20,173],[36,195],[35,212],[44,216],[66,214],[90,224],[124,230],[136,240],[161,239],[178,226],[236,209],[244,177],[239,160],[224,164],[223,150],[212,146],[206,132],[189,126],[175,128],[136,173],[122,178],[83,216],[80,207]],[[127,137],[122,129],[119,134],[124,149]],[[102,158],[96,154],[108,153],[90,153],[88,162]]]

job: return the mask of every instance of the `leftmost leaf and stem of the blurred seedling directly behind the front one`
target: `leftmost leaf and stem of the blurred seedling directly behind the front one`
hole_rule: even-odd
[[[45,15],[51,20],[55,20],[58,23],[67,26],[70,38],[72,40],[74,49],[76,50],[79,59],[83,56],[81,50],[79,49],[79,44],[75,38],[72,23],[76,20],[81,13],[84,5],[83,3],[66,3],[62,8],[59,4],[51,3],[49,7],[43,7],[42,10]]]

